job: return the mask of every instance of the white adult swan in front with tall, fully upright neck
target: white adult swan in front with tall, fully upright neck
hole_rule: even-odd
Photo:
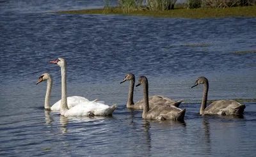
[[[58,58],[50,63],[58,64],[61,67],[61,105],[60,114],[63,116],[108,116],[112,115],[118,105],[108,106],[104,103],[97,101],[84,101],[76,106],[68,109],[67,105],[67,73],[66,73],[66,61],[63,58]]]

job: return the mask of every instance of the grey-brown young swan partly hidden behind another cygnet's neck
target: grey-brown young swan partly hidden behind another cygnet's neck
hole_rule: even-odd
[[[127,80],[130,80],[130,86],[129,86],[129,94],[128,94],[128,101],[127,101],[126,107],[132,108],[135,110],[143,110],[143,105],[144,105],[143,99],[136,103],[133,102],[133,91],[134,91],[134,84],[135,84],[134,74],[127,73],[127,75],[125,75],[124,77],[124,80],[120,82],[120,84],[122,84]],[[173,105],[175,107],[179,107],[180,103],[182,103],[183,100],[174,101],[164,96],[155,95],[155,96],[148,97],[148,101],[149,101],[149,108],[151,109],[157,105]]]

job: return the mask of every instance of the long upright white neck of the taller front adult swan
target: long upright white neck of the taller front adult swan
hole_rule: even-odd
[[[66,110],[68,110],[67,104],[67,72],[66,64],[61,66],[61,105],[60,105],[60,114],[63,115]]]

